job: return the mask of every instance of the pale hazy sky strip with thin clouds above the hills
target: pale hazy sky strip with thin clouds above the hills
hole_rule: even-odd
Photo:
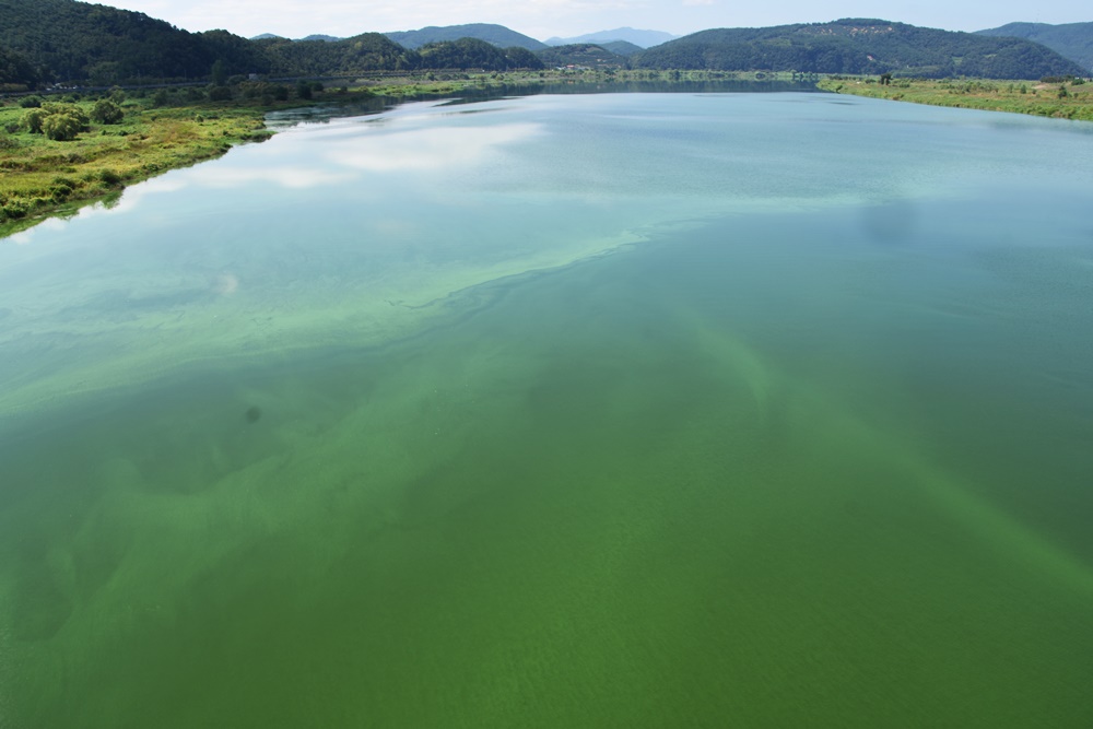
[[[92,0],[139,10],[187,31],[224,28],[251,37],[275,33],[350,36],[411,31],[426,25],[500,23],[540,40],[622,26],[685,35],[710,27],[812,23],[882,17],[948,31],[980,31],[1006,23],[1093,21],[1089,0]]]

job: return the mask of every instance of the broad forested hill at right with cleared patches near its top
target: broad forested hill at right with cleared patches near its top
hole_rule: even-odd
[[[634,57],[638,68],[926,78],[1039,79],[1082,75],[1079,64],[1021,38],[989,37],[882,20],[702,31]]]

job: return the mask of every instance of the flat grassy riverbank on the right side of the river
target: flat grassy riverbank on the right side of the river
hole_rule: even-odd
[[[825,91],[871,98],[1093,121],[1093,83],[1081,80],[1045,83],[892,79],[890,83],[881,83],[877,77],[830,77],[818,85]]]

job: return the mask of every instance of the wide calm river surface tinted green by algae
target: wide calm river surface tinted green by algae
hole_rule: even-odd
[[[0,242],[0,727],[1093,725],[1093,128],[316,118]]]

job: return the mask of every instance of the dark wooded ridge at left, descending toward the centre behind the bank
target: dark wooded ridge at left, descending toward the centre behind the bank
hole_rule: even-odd
[[[143,13],[77,0],[0,0],[0,86],[202,81],[211,78],[214,64],[224,75],[282,77],[542,68],[521,47],[500,49],[468,38],[428,44],[420,51],[380,33],[343,39],[250,40],[226,31],[189,33]]]

